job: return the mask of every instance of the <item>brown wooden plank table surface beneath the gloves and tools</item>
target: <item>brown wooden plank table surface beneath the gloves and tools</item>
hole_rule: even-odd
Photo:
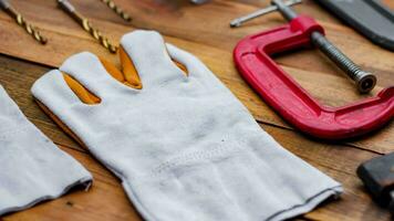
[[[284,148],[343,183],[345,191],[340,200],[323,203],[299,220],[391,220],[388,212],[379,208],[365,192],[355,176],[355,169],[367,159],[394,150],[393,123],[357,139],[331,144],[311,139],[283,122],[253,93],[235,69],[231,51],[237,41],[247,34],[283,24],[284,20],[278,13],[272,13],[235,30],[228,23],[236,17],[267,6],[268,0],[212,0],[204,6],[193,6],[186,0],[115,0],[133,15],[132,23],[122,21],[98,0],[71,1],[115,43],[124,33],[135,29],[155,29],[165,35],[166,41],[197,55],[249,108],[261,127]],[[385,2],[394,9],[394,1]],[[2,219],[141,220],[118,179],[45,116],[30,94],[30,87],[38,77],[59,66],[71,54],[91,51],[120,65],[117,56],[106,52],[59,10],[54,0],[13,0],[12,3],[27,19],[41,28],[49,43],[40,45],[6,13],[0,12],[0,84],[31,122],[92,172],[94,185],[87,192],[75,190],[58,200],[40,203]],[[326,29],[326,35],[332,42],[379,78],[373,93],[361,96],[339,69],[315,50],[277,57],[276,61],[315,98],[326,105],[340,106],[375,95],[383,87],[394,84],[393,52],[372,44],[311,0],[305,0],[294,9],[314,17]]]

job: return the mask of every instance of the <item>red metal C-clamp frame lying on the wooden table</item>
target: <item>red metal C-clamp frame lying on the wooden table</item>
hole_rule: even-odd
[[[343,107],[328,107],[312,98],[274,63],[270,54],[310,46],[311,34],[318,32],[323,36],[324,30],[312,18],[298,17],[278,0],[273,3],[290,23],[247,36],[234,51],[239,72],[260,96],[287,122],[319,138],[355,137],[388,123],[394,115],[394,86],[373,98]]]

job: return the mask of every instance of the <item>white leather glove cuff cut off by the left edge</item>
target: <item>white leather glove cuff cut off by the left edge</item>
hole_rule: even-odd
[[[0,85],[0,215],[55,199],[92,176],[60,150]]]

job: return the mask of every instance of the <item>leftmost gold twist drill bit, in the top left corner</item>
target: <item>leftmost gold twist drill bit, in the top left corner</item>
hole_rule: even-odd
[[[0,0],[0,8],[2,8],[11,18],[13,18],[17,23],[22,27],[30,35],[32,35],[38,42],[41,44],[46,44],[48,39],[42,36],[35,27],[27,22],[22,14],[13,9],[7,0]]]

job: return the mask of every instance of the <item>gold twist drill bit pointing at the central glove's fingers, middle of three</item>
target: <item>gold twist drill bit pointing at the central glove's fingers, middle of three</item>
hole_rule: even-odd
[[[108,39],[103,36],[103,34],[92,27],[89,20],[82,17],[75,8],[68,0],[58,0],[59,6],[70,14],[86,32],[89,32],[95,40],[97,40],[101,45],[107,49],[111,53],[116,53],[117,46],[110,43]]]

